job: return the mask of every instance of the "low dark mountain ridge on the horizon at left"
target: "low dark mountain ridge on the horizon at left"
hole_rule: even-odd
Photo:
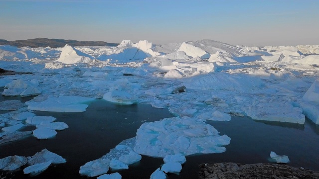
[[[15,47],[64,47],[65,44],[71,46],[117,46],[118,43],[108,43],[103,41],[77,41],[77,40],[64,40],[64,39],[47,39],[47,38],[35,38],[28,40],[14,40],[7,41],[0,39],[0,45],[11,45]]]

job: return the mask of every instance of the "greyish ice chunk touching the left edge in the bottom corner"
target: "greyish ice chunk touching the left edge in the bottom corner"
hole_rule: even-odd
[[[0,169],[4,171],[14,171],[26,164],[27,160],[21,156],[9,156],[0,159]]]

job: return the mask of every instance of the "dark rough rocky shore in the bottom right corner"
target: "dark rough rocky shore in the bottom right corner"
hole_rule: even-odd
[[[199,179],[319,179],[319,172],[281,164],[201,164]]]

